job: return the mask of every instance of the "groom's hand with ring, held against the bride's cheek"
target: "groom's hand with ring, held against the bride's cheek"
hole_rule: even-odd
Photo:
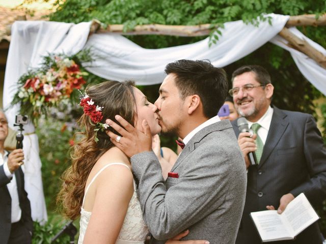
[[[110,136],[112,143],[120,148],[129,158],[143,151],[152,150],[152,135],[146,120],[142,122],[143,132],[135,129],[124,118],[116,115],[115,118],[120,123],[114,123],[111,119],[106,119],[105,123],[115,129],[121,137],[114,134],[110,130],[106,130],[106,134]]]

